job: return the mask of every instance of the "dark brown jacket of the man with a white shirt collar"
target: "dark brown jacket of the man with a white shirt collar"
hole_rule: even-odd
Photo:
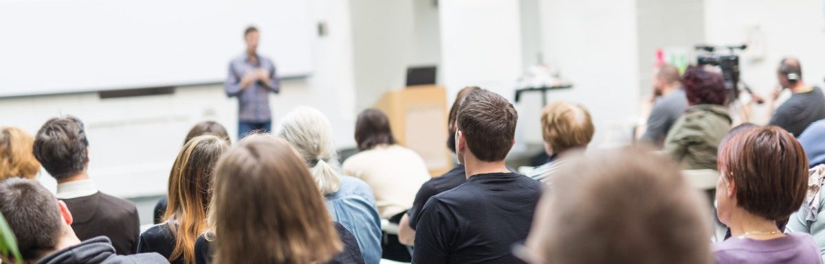
[[[78,239],[84,241],[106,236],[118,255],[136,252],[140,220],[133,203],[103,192],[63,201],[74,217],[72,229]]]

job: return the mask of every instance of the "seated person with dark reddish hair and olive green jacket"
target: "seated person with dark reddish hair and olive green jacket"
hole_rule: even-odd
[[[667,133],[663,151],[679,161],[683,169],[716,169],[719,141],[730,130],[732,121],[724,106],[728,97],[724,80],[718,73],[691,67],[681,83],[690,106]]]

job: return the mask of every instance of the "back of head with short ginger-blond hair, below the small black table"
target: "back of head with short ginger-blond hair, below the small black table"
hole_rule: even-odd
[[[595,130],[590,113],[581,104],[554,102],[541,111],[541,136],[554,154],[586,147]]]

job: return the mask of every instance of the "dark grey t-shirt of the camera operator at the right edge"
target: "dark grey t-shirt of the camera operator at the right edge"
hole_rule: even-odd
[[[813,90],[794,94],[771,117],[772,126],[785,128],[788,132],[799,137],[811,123],[825,118],[825,95],[819,87]]]

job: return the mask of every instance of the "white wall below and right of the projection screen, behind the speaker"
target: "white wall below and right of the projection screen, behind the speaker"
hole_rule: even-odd
[[[299,104],[321,109],[332,122],[337,145],[355,146],[348,5],[337,0],[312,4],[314,20],[326,21],[329,34],[314,39],[314,75],[284,81],[281,95],[271,95],[274,118],[277,122]],[[89,173],[102,191],[120,197],[158,195],[165,193],[169,168],[193,124],[215,120],[233,135],[237,131],[237,100],[227,98],[222,89],[181,87],[174,95],[107,100],[94,93],[0,99],[0,126],[19,126],[34,134],[48,118],[78,116],[87,125],[91,144]],[[54,189],[54,181],[44,178]]]

